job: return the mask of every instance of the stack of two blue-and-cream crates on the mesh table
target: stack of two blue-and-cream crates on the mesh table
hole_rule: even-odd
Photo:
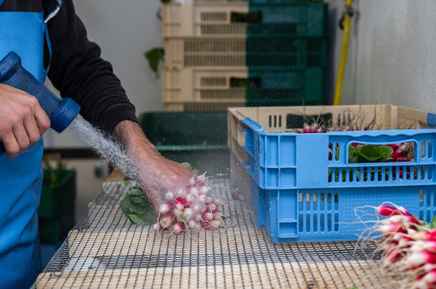
[[[299,113],[327,114],[337,122],[353,110],[373,113],[389,129],[294,133],[286,122]],[[246,174],[233,176],[238,170],[232,167],[232,183],[249,181],[245,189],[258,227],[272,242],[357,240],[364,224],[355,208],[386,201],[430,222],[436,208],[436,129],[429,127],[436,126],[435,116],[391,105],[230,108],[228,145],[238,160],[231,163],[239,163]],[[414,144],[413,161],[348,161],[352,143],[398,142]]]

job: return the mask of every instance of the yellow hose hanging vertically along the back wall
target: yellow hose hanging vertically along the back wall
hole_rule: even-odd
[[[342,94],[342,83],[343,83],[343,72],[345,70],[345,63],[347,61],[348,53],[348,40],[350,38],[350,19],[351,15],[348,13],[352,5],[352,0],[345,0],[345,9],[347,12],[343,15],[343,40],[342,40],[342,51],[341,59],[339,60],[338,67],[338,77],[336,79],[336,89],[334,90],[334,100],[333,105],[338,106],[341,104],[341,94]]]

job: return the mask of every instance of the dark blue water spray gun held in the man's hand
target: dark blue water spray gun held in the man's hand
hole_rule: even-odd
[[[72,99],[60,99],[50,91],[44,83],[38,81],[21,65],[21,58],[14,51],[10,51],[0,60],[0,83],[24,90],[32,94],[50,119],[51,127],[61,133],[79,114],[80,106]],[[5,151],[0,143],[0,156]]]

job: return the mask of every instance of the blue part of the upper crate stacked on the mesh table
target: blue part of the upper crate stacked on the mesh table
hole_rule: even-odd
[[[260,188],[436,184],[434,129],[277,134],[263,132],[249,118],[242,123],[247,125],[244,149],[249,154],[244,166]],[[348,163],[348,146],[353,142],[371,145],[414,142],[415,160]],[[329,159],[330,146],[338,147],[338,159]],[[385,174],[379,178],[378,174],[371,174],[373,170],[382,170]]]

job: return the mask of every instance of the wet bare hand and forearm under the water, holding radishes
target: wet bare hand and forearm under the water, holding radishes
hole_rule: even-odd
[[[166,192],[185,188],[189,179],[194,176],[194,172],[187,165],[164,158],[136,122],[120,122],[113,134],[127,148],[132,163],[137,167],[141,188],[156,209],[162,204],[162,197]]]

